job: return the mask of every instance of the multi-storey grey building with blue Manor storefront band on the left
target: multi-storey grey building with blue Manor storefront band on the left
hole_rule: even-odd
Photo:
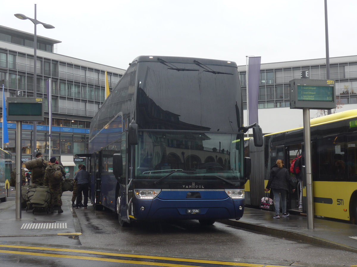
[[[46,160],[50,152],[51,156],[64,162],[68,156],[73,158],[76,154],[86,153],[90,121],[105,100],[105,71],[110,90],[125,72],[124,69],[56,54],[53,51],[57,43],[60,41],[37,36],[36,97],[47,99],[45,82],[51,79],[51,143],[48,106],[44,101],[45,121],[37,122],[36,148],[32,147],[32,122],[22,123],[22,161],[31,159],[34,150],[40,151]],[[34,96],[33,34],[0,26],[0,80],[0,86],[4,84],[5,100],[16,96],[18,90],[24,97]],[[2,107],[2,94],[0,98]],[[7,126],[9,143],[4,143],[3,149],[12,152],[14,161],[16,123],[9,121]],[[2,131],[0,136],[2,138]],[[66,160],[61,159],[64,157]],[[78,163],[76,160],[76,165]],[[71,174],[72,169],[67,168]]]

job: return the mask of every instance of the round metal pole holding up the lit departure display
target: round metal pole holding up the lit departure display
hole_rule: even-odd
[[[311,174],[311,131],[310,109],[303,109],[305,166],[306,166],[306,200],[307,200],[307,229],[314,229],[313,188]]]

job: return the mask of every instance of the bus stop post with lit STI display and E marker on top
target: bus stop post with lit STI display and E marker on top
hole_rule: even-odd
[[[308,77],[307,73],[301,76]],[[290,81],[290,109],[303,110],[305,169],[306,169],[306,199],[307,199],[307,229],[314,229],[313,188],[311,171],[311,130],[310,109],[336,108],[335,81],[317,79],[292,79]]]

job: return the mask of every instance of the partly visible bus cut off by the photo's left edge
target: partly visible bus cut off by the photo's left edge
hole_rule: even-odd
[[[0,148],[0,201],[5,202],[10,195],[11,153]]]

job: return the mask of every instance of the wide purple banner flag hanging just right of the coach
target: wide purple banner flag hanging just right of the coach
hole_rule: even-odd
[[[248,64],[248,125],[258,122],[258,93],[261,57],[250,57]]]

